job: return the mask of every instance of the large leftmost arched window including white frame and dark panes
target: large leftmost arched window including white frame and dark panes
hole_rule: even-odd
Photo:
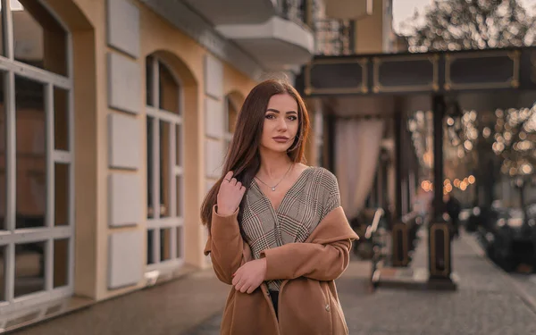
[[[73,284],[71,37],[45,4],[3,1],[0,314]]]

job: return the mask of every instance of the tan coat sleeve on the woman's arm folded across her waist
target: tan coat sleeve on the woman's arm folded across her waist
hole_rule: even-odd
[[[263,251],[266,258],[264,280],[292,280],[307,277],[334,281],[346,270],[350,260],[351,239],[330,244],[289,243]]]

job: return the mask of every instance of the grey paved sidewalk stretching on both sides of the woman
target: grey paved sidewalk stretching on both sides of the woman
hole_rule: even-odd
[[[352,262],[337,281],[350,334],[536,334],[536,314],[530,299],[522,299],[536,289],[520,290],[517,281],[482,255],[470,235],[454,241],[453,257],[460,277],[455,292],[382,288],[371,292],[370,264]],[[426,259],[421,243],[415,264],[425,266]],[[212,270],[197,272],[14,334],[215,335],[228,291]]]

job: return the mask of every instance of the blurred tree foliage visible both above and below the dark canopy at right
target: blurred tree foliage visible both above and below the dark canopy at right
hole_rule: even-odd
[[[434,0],[424,13],[415,11],[403,22],[401,31],[414,53],[534,46],[536,16],[519,0]],[[493,180],[500,172],[520,190],[519,205],[526,205],[523,189],[536,180],[535,110],[536,106],[497,111],[491,119],[480,113],[477,118],[474,111],[448,116],[445,155],[453,162],[457,156],[474,169],[482,188],[481,205],[491,204]],[[452,167],[457,174],[464,170]]]

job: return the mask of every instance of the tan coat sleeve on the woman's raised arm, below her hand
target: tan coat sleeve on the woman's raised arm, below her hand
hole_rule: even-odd
[[[232,285],[232,274],[242,264],[244,239],[240,235],[239,210],[229,216],[221,216],[213,207],[212,228],[205,245],[205,255],[211,255],[216,277]]]

